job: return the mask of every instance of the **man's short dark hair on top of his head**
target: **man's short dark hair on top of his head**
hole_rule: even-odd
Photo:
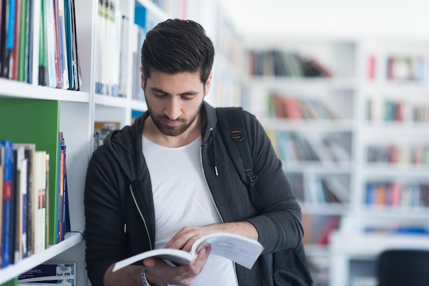
[[[147,32],[141,48],[143,75],[195,73],[206,83],[212,70],[215,47],[204,28],[191,20],[169,19]]]

